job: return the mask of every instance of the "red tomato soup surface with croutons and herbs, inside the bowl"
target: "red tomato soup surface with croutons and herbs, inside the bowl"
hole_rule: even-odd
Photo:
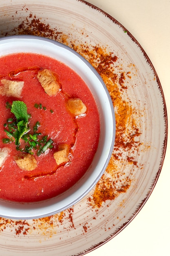
[[[91,165],[99,133],[95,99],[70,67],[40,54],[0,58],[1,199],[36,202],[69,189]]]

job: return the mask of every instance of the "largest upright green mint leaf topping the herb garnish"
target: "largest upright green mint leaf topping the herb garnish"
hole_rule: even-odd
[[[13,101],[11,112],[15,115],[17,123],[20,121],[28,122],[27,107],[23,101]]]

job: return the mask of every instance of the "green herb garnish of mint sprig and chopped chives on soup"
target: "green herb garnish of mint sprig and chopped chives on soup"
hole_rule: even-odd
[[[8,138],[2,139],[3,143],[11,143],[15,141],[16,149],[31,155],[36,152],[38,156],[43,154],[48,148],[53,148],[53,140],[48,139],[48,135],[42,136],[38,132],[40,122],[37,121],[33,126],[33,134],[29,133],[29,119],[31,115],[27,113],[26,104],[23,101],[13,101],[12,105],[7,102],[6,108],[10,109],[15,118],[7,119],[4,124],[4,131]],[[25,142],[24,148],[20,147],[20,140]]]

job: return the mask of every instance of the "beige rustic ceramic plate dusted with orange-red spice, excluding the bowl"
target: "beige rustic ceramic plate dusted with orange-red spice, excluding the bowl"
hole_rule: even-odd
[[[1,1],[0,34],[46,36],[71,46],[99,72],[113,99],[115,148],[93,191],[48,218],[0,219],[2,255],[86,254],[128,225],[159,177],[167,114],[157,73],[119,22],[81,0]]]

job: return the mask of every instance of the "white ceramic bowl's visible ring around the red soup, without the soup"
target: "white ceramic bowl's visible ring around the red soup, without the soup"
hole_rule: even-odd
[[[90,88],[100,113],[101,134],[97,152],[88,171],[71,189],[43,202],[21,204],[0,201],[0,216],[17,219],[41,218],[73,206],[98,182],[113,152],[115,114],[113,103],[102,78],[88,61],[70,47],[38,36],[21,35],[0,38],[0,56],[16,52],[47,55],[71,67]]]

